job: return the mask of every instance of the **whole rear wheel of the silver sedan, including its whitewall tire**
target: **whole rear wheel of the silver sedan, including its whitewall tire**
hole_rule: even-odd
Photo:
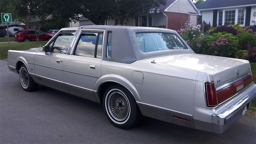
[[[140,122],[141,112],[136,101],[122,86],[113,85],[105,90],[103,106],[108,120],[118,128],[132,128]]]

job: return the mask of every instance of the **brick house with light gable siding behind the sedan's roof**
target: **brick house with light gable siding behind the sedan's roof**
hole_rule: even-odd
[[[154,12],[142,14],[137,18],[115,18],[106,20],[107,25],[160,27],[178,30],[188,21],[197,24],[197,16],[201,15],[191,0],[166,0],[166,5],[154,8]],[[80,17],[80,25],[93,24]]]

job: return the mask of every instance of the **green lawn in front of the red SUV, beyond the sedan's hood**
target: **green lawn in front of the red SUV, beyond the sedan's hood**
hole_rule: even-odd
[[[39,46],[44,46],[48,41],[39,41],[39,42],[17,42],[10,43],[10,50],[28,50],[30,48],[36,48]],[[0,44],[0,59],[7,58],[8,43]]]

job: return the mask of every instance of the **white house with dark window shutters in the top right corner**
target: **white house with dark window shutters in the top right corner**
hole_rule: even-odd
[[[256,0],[206,0],[199,10],[202,20],[214,27],[238,23],[250,26],[256,16]]]

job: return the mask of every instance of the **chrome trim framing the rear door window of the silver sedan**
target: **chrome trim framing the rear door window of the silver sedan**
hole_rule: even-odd
[[[71,51],[67,52],[67,54],[69,55],[72,55],[72,56],[75,56],[74,55],[74,50],[75,50],[75,47],[76,47],[76,43],[78,42],[79,38],[80,38],[80,35],[82,34],[82,32],[103,32],[103,38],[102,38],[102,54],[101,54],[101,58],[96,58],[96,59],[101,59],[103,58],[103,48],[104,48],[104,40],[105,40],[105,30],[100,30],[100,29],[80,29],[76,38],[74,38],[74,40],[72,39],[70,44],[72,43],[72,48],[71,48]],[[86,57],[86,56],[81,56],[81,57]],[[89,57],[86,57],[86,58],[89,58]]]

